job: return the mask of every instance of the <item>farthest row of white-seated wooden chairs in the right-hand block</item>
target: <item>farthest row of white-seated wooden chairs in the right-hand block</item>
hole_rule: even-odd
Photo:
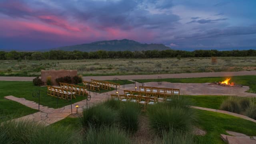
[[[180,89],[175,88],[158,88],[149,86],[139,86],[140,92],[154,92],[162,94],[180,95]]]

